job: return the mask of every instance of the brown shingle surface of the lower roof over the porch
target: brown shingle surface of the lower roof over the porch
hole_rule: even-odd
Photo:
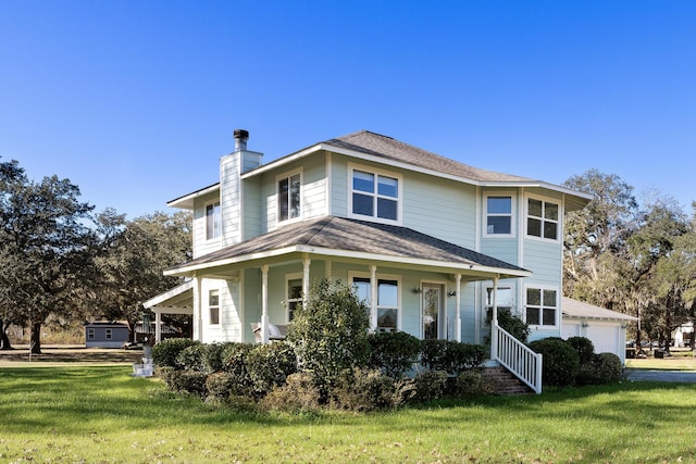
[[[394,259],[394,261],[401,259],[426,260],[446,263],[450,267],[462,265],[462,267],[497,268],[512,275],[529,273],[522,267],[407,227],[324,216],[295,223],[241,243],[214,251],[172,267],[167,271],[167,274],[207,267],[208,265],[214,266],[225,262],[244,262],[258,255],[258,253],[285,249],[299,251],[297,247],[324,251],[366,253],[375,256],[375,259],[376,256],[382,256],[382,259]]]

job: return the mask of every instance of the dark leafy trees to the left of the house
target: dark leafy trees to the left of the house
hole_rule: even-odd
[[[96,213],[69,179],[34,181],[18,162],[0,162],[0,349],[11,349],[11,325],[30,329],[34,353],[49,322],[127,321],[134,330],[142,302],[181,283],[162,271],[191,258],[190,227],[183,212]],[[186,334],[187,318],[169,322]]]

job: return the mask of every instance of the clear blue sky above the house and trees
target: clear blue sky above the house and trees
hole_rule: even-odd
[[[368,129],[696,200],[696,1],[0,0],[0,156],[129,218]]]

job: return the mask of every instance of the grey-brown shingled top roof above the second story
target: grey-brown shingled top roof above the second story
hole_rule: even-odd
[[[369,130],[326,140],[324,143],[477,181],[532,180],[526,177],[480,170]]]

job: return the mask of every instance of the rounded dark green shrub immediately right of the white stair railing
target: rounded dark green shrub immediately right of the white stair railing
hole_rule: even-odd
[[[573,347],[557,337],[533,341],[529,347],[544,356],[543,385],[564,387],[574,384],[580,368],[580,356]]]

